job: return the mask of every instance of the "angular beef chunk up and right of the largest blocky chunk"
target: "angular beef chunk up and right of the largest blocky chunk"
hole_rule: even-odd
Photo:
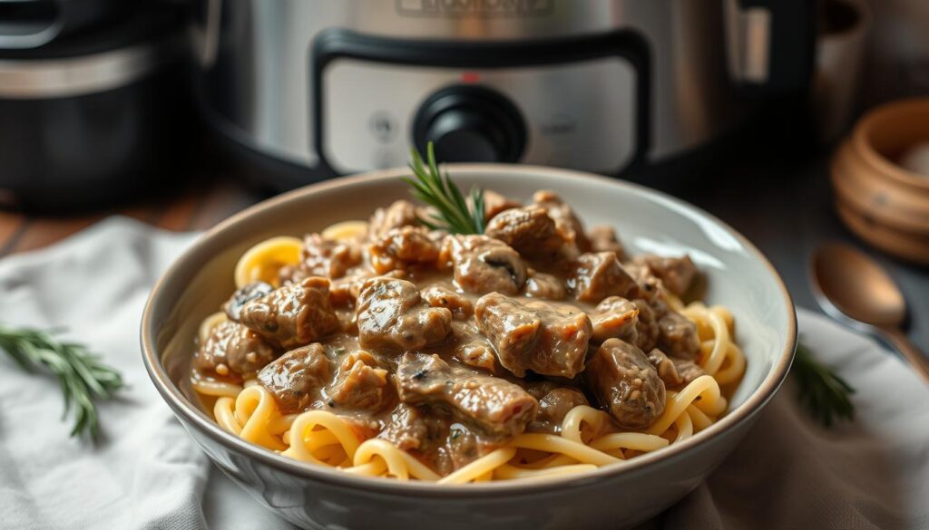
[[[574,296],[591,304],[608,296],[631,298],[637,287],[613,252],[582,254],[574,263],[569,282]]]

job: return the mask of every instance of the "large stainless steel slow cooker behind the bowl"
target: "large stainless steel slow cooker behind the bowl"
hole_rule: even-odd
[[[806,0],[203,0],[198,99],[262,182],[526,162],[635,175],[805,86]]]

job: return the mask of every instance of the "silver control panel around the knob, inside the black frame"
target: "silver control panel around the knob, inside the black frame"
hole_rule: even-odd
[[[317,146],[342,174],[445,162],[526,162],[616,174],[646,138],[635,66],[610,55],[464,69],[338,57],[321,72]]]

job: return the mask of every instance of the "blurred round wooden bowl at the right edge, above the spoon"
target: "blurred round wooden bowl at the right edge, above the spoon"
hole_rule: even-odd
[[[929,265],[929,176],[900,165],[929,144],[929,97],[871,110],[836,151],[832,186],[839,216],[873,246]]]

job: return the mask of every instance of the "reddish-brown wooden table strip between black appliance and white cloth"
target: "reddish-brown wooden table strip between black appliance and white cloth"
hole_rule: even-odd
[[[61,216],[0,210],[0,258],[65,239],[110,215],[125,215],[167,230],[203,230],[261,200],[235,180],[216,179],[156,200]]]

